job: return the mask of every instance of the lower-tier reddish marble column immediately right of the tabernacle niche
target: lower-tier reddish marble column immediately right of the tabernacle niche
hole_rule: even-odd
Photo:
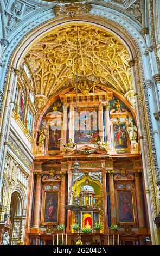
[[[110,212],[111,212],[111,224],[117,223],[116,221],[116,200],[114,193],[114,179],[113,172],[108,171],[109,174],[109,188],[110,188]]]

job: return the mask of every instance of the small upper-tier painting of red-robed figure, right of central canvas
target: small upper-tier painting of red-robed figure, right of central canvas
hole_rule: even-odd
[[[113,124],[114,145],[116,149],[127,148],[126,124]]]

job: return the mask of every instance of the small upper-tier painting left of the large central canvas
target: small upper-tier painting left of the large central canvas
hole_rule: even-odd
[[[60,150],[61,126],[49,126],[48,150]]]

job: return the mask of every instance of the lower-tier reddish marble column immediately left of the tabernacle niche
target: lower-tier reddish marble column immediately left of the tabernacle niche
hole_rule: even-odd
[[[66,174],[61,174],[60,221],[65,224]]]

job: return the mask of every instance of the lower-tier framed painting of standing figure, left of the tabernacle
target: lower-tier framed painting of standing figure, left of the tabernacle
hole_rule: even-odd
[[[58,222],[58,192],[44,193],[44,222]]]

